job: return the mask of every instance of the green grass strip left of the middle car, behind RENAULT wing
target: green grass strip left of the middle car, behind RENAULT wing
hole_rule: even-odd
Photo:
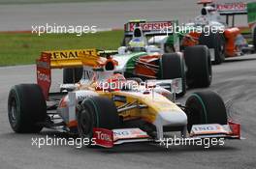
[[[42,51],[61,49],[117,49],[123,31],[83,34],[0,34],[0,66],[34,64]]]

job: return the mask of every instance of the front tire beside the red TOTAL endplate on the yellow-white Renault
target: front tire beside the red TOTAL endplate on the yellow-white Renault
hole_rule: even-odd
[[[80,104],[77,119],[80,137],[88,139],[88,147],[92,146],[93,127],[119,127],[117,109],[111,99],[104,97],[84,99]]]

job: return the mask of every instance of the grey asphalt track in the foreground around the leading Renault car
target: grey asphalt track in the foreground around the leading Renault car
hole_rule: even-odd
[[[181,2],[184,1],[174,4]],[[188,6],[183,4],[179,8],[189,8]],[[139,9],[139,6],[135,8]],[[167,7],[164,6],[163,9],[165,8]],[[186,13],[194,14],[193,11]],[[69,17],[69,14],[65,16]],[[2,15],[0,19],[4,19]],[[123,22],[123,19],[120,20]],[[47,135],[52,137],[54,134],[67,137],[67,135],[49,130],[44,130],[40,134],[16,134],[9,126],[7,117],[7,98],[10,88],[18,83],[34,83],[35,74],[35,66],[0,68],[0,169],[253,169],[256,167],[256,55],[213,66],[213,81],[210,88],[190,90],[183,99],[179,100],[184,102],[189,94],[195,91],[215,91],[226,102],[233,119],[240,122],[242,137],[245,139],[226,141],[224,146],[209,149],[197,146],[173,146],[166,149],[147,143],[121,145],[113,149],[77,149],[70,146],[45,146],[38,149],[31,145],[32,137]],[[53,79],[53,86],[56,87],[58,82],[62,81],[61,70],[53,72]]]

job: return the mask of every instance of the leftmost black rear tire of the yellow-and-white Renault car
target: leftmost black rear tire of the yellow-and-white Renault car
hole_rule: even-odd
[[[8,118],[18,133],[36,133],[42,130],[38,123],[47,118],[47,104],[40,86],[20,84],[14,86],[8,98]]]

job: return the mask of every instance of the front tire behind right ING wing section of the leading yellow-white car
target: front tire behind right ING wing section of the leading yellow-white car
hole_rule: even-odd
[[[193,125],[220,124],[227,125],[227,112],[223,100],[214,92],[193,93],[187,100],[188,131]]]

